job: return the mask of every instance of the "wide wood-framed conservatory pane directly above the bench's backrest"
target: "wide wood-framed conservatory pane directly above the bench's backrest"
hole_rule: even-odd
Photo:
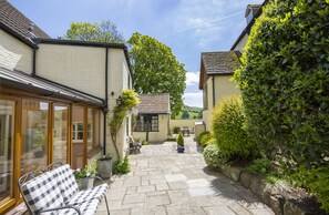
[[[23,100],[21,175],[48,164],[49,104]]]

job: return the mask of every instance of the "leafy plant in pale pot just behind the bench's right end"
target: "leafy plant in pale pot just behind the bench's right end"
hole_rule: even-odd
[[[92,164],[86,165],[82,170],[80,168],[76,170],[74,176],[81,190],[93,187],[94,176],[97,173],[96,167],[97,167],[96,162],[93,162]]]

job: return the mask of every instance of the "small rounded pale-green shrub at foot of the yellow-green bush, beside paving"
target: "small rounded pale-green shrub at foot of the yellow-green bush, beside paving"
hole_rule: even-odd
[[[208,166],[218,167],[226,163],[216,144],[208,144],[204,150],[204,158]]]

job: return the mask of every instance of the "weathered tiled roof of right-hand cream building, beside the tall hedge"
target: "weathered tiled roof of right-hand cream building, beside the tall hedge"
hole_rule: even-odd
[[[207,74],[229,74],[240,65],[237,52],[218,51],[203,52],[202,63]]]

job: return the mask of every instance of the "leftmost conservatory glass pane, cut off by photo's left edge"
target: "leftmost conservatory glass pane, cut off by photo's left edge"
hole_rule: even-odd
[[[14,102],[0,100],[0,206],[13,198]]]

